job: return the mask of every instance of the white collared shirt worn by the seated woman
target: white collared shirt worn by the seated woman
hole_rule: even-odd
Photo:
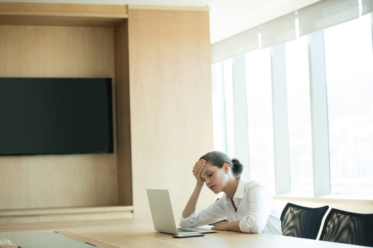
[[[240,178],[236,194],[231,198],[224,194],[222,198],[206,209],[195,211],[187,218],[181,217],[180,227],[199,227],[219,220],[240,222],[240,230],[245,233],[267,233],[281,235],[281,221],[270,194],[254,180]]]

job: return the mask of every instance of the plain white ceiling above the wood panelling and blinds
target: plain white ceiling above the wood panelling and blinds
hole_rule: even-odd
[[[211,44],[321,0],[0,0],[0,2],[209,6]]]

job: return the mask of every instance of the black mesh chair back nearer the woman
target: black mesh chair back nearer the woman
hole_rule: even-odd
[[[280,217],[283,235],[316,240],[328,208],[329,206],[303,207],[287,203]]]

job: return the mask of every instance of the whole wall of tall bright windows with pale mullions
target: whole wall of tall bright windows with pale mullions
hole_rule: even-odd
[[[245,75],[240,76],[245,78],[247,96],[247,176],[260,181],[272,194],[283,192],[278,191],[275,178],[283,178],[279,175],[285,171],[290,178],[289,189],[285,189],[291,195],[325,196],[331,192],[340,198],[372,199],[372,48],[372,14],[365,14],[285,44],[245,54]],[[276,71],[282,69],[273,66],[274,56],[276,66],[285,64],[285,73]],[[213,103],[214,137],[220,144],[216,143],[216,149],[236,156],[233,79],[237,75],[233,72],[240,70],[235,70],[232,61],[235,59],[213,65],[213,88],[220,88],[222,98],[219,105],[215,100]],[[285,91],[276,90],[276,76],[285,78],[280,80],[286,81]],[[281,103],[280,120],[285,121],[280,128],[278,105],[273,105],[278,94],[286,94],[287,99]],[[216,114],[219,106],[224,107],[224,114]],[[287,165],[278,165],[274,149],[278,146],[274,134],[278,132],[274,130],[286,132],[285,137],[289,138],[289,144],[280,143],[289,148],[289,162],[284,160]],[[318,162],[314,161],[316,158]]]

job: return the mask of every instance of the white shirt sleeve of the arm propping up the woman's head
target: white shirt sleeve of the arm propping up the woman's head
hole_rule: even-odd
[[[224,220],[227,215],[224,212],[223,199],[219,199],[216,203],[209,205],[206,209],[195,211],[187,218],[180,218],[180,227],[200,227],[209,225],[219,220]]]

